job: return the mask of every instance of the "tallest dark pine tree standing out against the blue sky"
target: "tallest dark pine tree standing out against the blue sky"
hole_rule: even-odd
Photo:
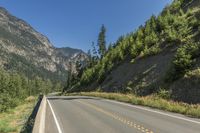
[[[98,36],[98,43],[97,43],[97,45],[99,47],[98,52],[99,52],[101,59],[103,58],[103,56],[106,53],[106,40],[105,40],[106,35],[105,34],[106,34],[106,28],[105,28],[104,25],[102,25],[101,31],[100,31],[99,36]]]

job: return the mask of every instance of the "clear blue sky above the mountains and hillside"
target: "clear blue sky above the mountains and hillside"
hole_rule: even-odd
[[[56,47],[87,51],[102,24],[107,43],[135,31],[172,0],[1,0],[0,6],[46,35]]]

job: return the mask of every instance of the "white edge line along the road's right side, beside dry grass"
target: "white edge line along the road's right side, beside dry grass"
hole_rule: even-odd
[[[130,105],[130,104],[128,104],[128,103],[122,103],[122,102],[113,101],[113,100],[107,100],[107,99],[104,99],[104,100],[105,100],[105,101],[109,101],[109,102],[113,102],[113,103],[117,103],[117,104],[121,104],[121,105],[126,105],[126,106],[133,107],[133,108],[137,108],[137,109],[140,109],[140,110],[145,110],[145,111],[149,111],[149,112],[153,112],[153,113],[157,113],[157,114],[169,116],[169,117],[172,117],[172,118],[176,118],[176,119],[180,119],[180,120],[184,120],[184,121],[188,121],[188,122],[200,124],[199,121],[194,121],[194,120],[182,118],[182,117],[179,117],[179,116],[175,116],[175,115],[171,115],[171,114],[167,114],[167,113],[163,113],[163,112],[159,112],[159,111],[147,109],[147,108],[144,108],[144,107],[138,107],[138,106],[136,106],[136,105]]]

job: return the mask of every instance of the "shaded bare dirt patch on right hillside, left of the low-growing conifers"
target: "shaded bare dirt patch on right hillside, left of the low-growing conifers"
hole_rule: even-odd
[[[116,92],[130,84],[137,92],[151,93],[162,84],[174,53],[171,48],[154,56],[138,58],[134,63],[127,59],[106,77],[101,85],[102,89]]]

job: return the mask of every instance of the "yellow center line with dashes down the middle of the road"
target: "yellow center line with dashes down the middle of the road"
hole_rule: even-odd
[[[108,112],[108,111],[106,111],[106,110],[104,110],[104,109],[102,109],[100,107],[97,107],[97,106],[95,106],[93,104],[90,104],[88,102],[83,102],[83,101],[80,101],[80,100],[77,100],[77,102],[79,102],[81,104],[84,104],[84,105],[86,105],[86,106],[88,106],[90,108],[93,108],[93,109],[95,109],[95,110],[97,110],[97,111],[99,111],[101,113],[104,113],[104,114],[108,115],[109,117],[112,117],[112,118],[114,118],[114,119],[116,119],[116,120],[128,125],[129,127],[133,127],[134,129],[137,129],[140,132],[143,132],[143,133],[154,133],[150,129],[147,129],[147,128],[143,127],[142,125],[137,124],[136,122],[133,122],[133,121],[130,121],[130,120],[126,119],[126,118],[123,118],[123,117],[121,117],[121,116],[119,116],[119,115],[117,115],[115,113]]]

